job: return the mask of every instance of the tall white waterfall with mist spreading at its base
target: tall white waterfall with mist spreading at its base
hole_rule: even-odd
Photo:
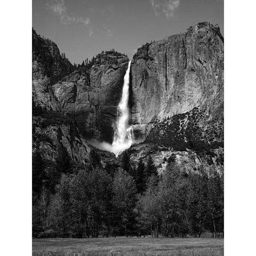
[[[114,140],[112,144],[107,142],[91,141],[90,143],[101,149],[107,150],[116,155],[116,157],[122,153],[125,149],[131,147],[134,143],[133,129],[129,125],[129,82],[130,82],[130,67],[131,61],[129,61],[128,68],[124,76],[124,85],[121,101],[117,108],[117,122],[114,125]]]

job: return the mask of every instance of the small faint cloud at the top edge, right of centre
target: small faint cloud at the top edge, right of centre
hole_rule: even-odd
[[[162,12],[167,18],[173,16],[180,4],[180,0],[150,0],[150,2],[156,15]]]

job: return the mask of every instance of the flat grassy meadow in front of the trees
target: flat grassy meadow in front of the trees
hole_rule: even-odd
[[[33,256],[222,256],[223,238],[33,239]]]

